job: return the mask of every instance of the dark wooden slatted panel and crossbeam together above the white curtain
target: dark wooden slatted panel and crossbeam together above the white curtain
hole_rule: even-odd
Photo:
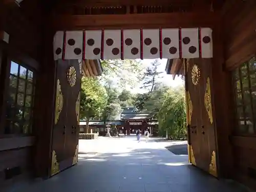
[[[212,27],[224,1],[56,0],[51,22],[55,30]]]

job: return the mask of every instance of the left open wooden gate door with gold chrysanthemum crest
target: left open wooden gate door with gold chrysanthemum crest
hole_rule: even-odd
[[[58,60],[50,176],[78,161],[80,60]]]

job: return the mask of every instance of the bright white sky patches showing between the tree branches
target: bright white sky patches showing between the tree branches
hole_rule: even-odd
[[[154,61],[155,59],[143,59],[141,60],[141,63],[143,63],[143,65],[145,65],[145,67],[150,66],[150,64]],[[166,63],[167,63],[167,59],[159,59],[160,61],[160,65],[158,66],[157,71],[158,72],[163,72],[161,75],[163,76],[163,78],[158,79],[158,81],[161,81],[162,83],[166,84],[166,86],[170,86],[170,87],[179,87],[179,86],[183,86],[184,85],[184,81],[181,79],[181,76],[175,77],[175,80],[173,80],[173,76],[172,75],[167,75],[165,72],[165,67],[166,67]],[[144,93],[146,92],[146,90],[144,89],[140,89],[141,85],[138,85],[137,87],[135,87],[134,89],[131,90],[132,93]]]

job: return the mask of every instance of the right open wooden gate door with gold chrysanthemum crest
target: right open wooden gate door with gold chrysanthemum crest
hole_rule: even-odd
[[[218,177],[211,59],[184,60],[189,162]]]

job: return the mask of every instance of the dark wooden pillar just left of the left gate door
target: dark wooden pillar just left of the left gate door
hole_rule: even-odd
[[[34,105],[36,145],[34,166],[36,177],[47,178],[51,163],[51,138],[54,119],[56,62],[52,55],[55,32],[45,32],[41,51],[41,67],[36,82]]]

